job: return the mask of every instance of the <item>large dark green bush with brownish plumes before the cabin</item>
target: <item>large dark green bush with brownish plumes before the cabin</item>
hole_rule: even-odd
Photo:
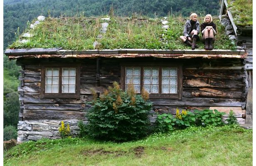
[[[149,131],[148,119],[152,103],[148,101],[148,93],[135,93],[129,85],[127,92],[120,89],[117,82],[113,88],[97,98],[95,92],[92,107],[87,113],[88,134],[94,138],[126,141],[143,137]]]

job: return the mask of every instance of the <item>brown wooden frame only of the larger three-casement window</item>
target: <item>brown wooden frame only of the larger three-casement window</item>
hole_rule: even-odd
[[[121,63],[121,88],[125,90],[126,85],[126,67],[140,68],[140,93],[143,88],[144,68],[159,68],[158,88],[159,93],[150,93],[149,98],[172,98],[182,100],[182,65],[173,63]],[[177,68],[177,93],[162,93],[162,68]],[[139,94],[140,94],[139,93]]]

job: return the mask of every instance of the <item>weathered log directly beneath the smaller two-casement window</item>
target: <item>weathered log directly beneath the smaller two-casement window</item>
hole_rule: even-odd
[[[34,104],[84,104],[86,101],[91,101],[91,95],[80,95],[80,99],[74,98],[44,98],[40,99],[40,93],[25,93],[20,97],[20,100],[26,103]]]

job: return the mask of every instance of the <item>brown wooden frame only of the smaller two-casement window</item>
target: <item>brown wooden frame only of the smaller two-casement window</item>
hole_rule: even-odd
[[[80,99],[80,63],[60,63],[41,65],[41,90],[40,98],[76,98]],[[46,68],[59,68],[59,93],[45,93],[45,72]],[[76,68],[76,90],[75,93],[61,93],[63,68]]]

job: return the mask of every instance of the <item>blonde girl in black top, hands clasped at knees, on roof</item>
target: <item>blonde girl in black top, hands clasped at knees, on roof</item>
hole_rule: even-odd
[[[204,23],[201,24],[202,39],[205,43],[204,49],[212,50],[212,42],[217,33],[216,24],[212,22],[212,15],[208,14],[204,17]]]

